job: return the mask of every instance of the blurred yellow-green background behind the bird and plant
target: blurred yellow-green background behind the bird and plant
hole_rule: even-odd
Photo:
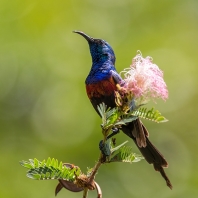
[[[169,162],[173,190],[145,161],[114,163],[96,178],[104,197],[197,197],[197,8],[197,0],[1,0],[0,197],[54,197],[57,181],[28,179],[20,160],[50,156],[86,172],[98,158],[100,118],[84,87],[91,58],[76,29],[107,40],[118,71],[137,50],[152,56],[169,88],[169,100],[149,104],[169,122],[144,123]],[[58,197],[82,194],[62,190]]]

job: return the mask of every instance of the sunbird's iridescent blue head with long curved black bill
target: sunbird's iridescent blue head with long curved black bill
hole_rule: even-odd
[[[92,38],[81,31],[74,31],[74,33],[80,34],[89,43],[93,63],[111,61],[115,64],[114,51],[106,41]]]

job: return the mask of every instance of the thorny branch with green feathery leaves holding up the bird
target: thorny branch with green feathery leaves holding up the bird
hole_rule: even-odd
[[[36,158],[29,161],[21,161],[21,165],[28,169],[27,177],[36,180],[57,179],[59,184],[55,189],[55,195],[64,187],[71,192],[83,191],[83,198],[87,198],[89,190],[97,190],[97,197],[102,198],[100,186],[95,182],[96,174],[100,166],[111,162],[137,162],[142,159],[132,153],[131,147],[126,147],[126,142],[115,147],[115,142],[110,141],[109,134],[112,129],[118,129],[124,124],[137,119],[137,116],[127,115],[120,111],[118,107],[106,109],[104,103],[98,106],[102,117],[103,140],[99,159],[92,169],[83,174],[78,166],[69,163],[58,162],[54,158],[46,161],[38,161]],[[140,114],[140,113],[139,113]],[[115,135],[115,134],[113,134]],[[115,139],[115,138],[114,138]]]

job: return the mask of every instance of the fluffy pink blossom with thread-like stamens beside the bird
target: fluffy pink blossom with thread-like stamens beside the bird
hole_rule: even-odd
[[[141,53],[138,53],[133,58],[130,68],[123,72],[125,91],[131,92],[138,103],[147,102],[149,99],[168,98],[163,72],[152,62],[151,57],[143,58]]]

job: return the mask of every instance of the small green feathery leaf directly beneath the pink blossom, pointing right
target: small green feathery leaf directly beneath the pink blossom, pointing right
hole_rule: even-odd
[[[154,108],[150,110],[147,110],[147,108],[139,108],[133,111],[131,115],[148,119],[157,123],[168,121],[158,110],[155,110]]]

